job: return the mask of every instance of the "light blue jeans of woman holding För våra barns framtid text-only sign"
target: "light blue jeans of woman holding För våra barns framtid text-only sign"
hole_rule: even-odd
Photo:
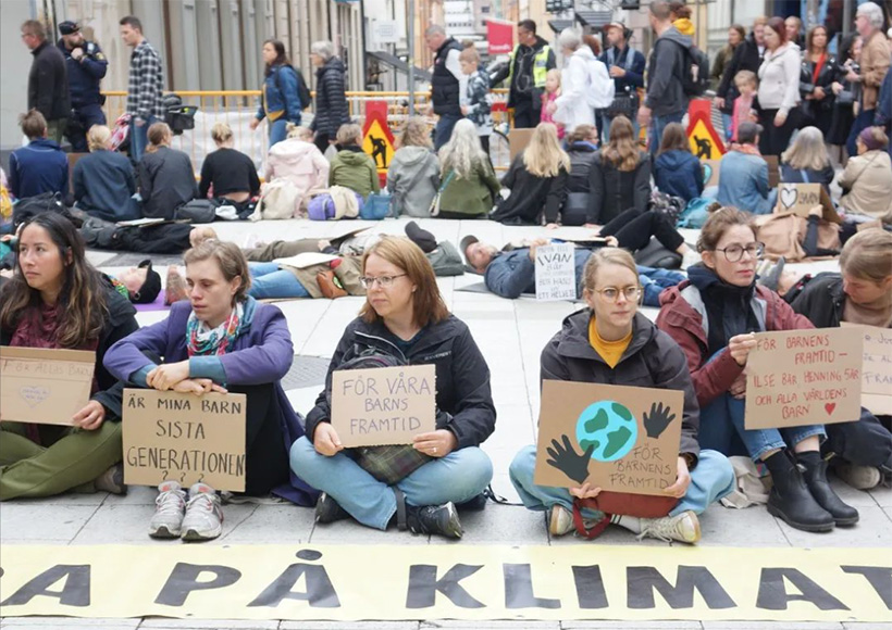
[[[344,452],[320,455],[307,437],[292,446],[292,470],[307,483],[327,492],[350,516],[364,526],[387,529],[396,513],[396,494]],[[409,505],[442,505],[470,501],[493,479],[493,463],[476,446],[453,451],[428,462],[404,478],[396,488]]]

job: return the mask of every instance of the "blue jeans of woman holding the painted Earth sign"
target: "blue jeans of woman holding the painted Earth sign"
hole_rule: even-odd
[[[511,483],[520,494],[520,500],[528,509],[546,511],[559,504],[567,509],[573,508],[573,497],[566,488],[536,486],[533,472],[536,467],[536,448],[524,446],[515,455],[508,469]],[[718,501],[734,489],[734,468],[728,457],[716,451],[701,451],[696,467],[691,470],[691,484],[678,505],[669,514],[674,516],[692,511],[703,514],[710,503]],[[599,518],[595,511],[582,511],[585,518]]]

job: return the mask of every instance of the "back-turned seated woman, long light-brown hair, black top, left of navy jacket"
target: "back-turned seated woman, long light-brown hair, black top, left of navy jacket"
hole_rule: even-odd
[[[610,140],[592,163],[589,223],[604,225],[624,211],[647,211],[651,200],[651,159],[639,150],[632,123],[617,116],[610,123]]]

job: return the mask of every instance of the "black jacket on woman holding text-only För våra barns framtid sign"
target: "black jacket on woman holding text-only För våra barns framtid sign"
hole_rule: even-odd
[[[406,360],[410,365],[433,364],[436,368],[437,429],[450,430],[458,440],[457,449],[479,446],[496,428],[496,408],[490,389],[490,367],[474,343],[468,326],[455,315],[439,324],[429,325],[419,332],[408,356],[396,345],[397,338],[380,322],[367,324],[354,319],[344,330],[329,365],[332,371],[344,361],[351,346],[377,349]],[[331,421],[332,412],[326,392],[315,400],[307,414],[307,439],[312,441],[319,423]]]

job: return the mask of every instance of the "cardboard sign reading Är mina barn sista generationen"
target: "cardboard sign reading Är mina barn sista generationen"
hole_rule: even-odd
[[[124,390],[124,482],[245,490],[245,394]]]

